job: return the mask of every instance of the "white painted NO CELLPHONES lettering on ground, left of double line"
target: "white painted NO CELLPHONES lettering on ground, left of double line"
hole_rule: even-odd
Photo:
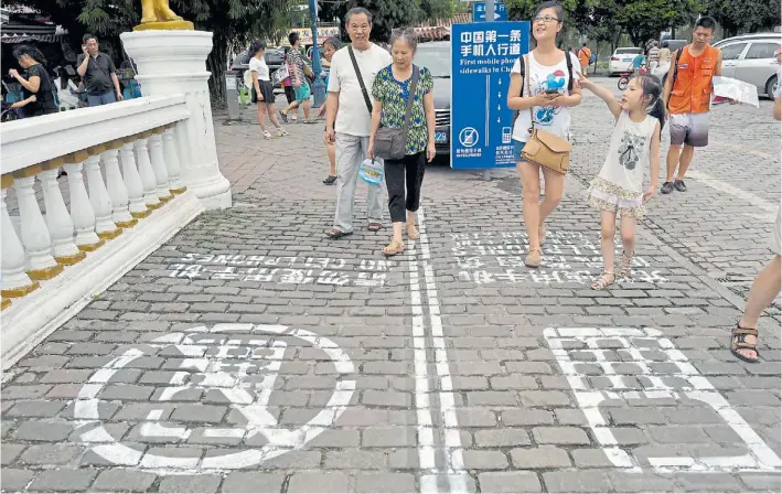
[[[397,265],[382,259],[185,254],[169,269],[172,278],[383,287],[386,273]]]

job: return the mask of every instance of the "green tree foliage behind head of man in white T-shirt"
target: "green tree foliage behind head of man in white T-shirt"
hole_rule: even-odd
[[[321,19],[340,19],[342,37],[347,40],[344,32],[344,19],[347,11],[354,7],[363,7],[372,12],[372,41],[387,42],[392,30],[413,25],[421,18],[421,7],[416,0],[346,0],[338,3],[321,6]]]

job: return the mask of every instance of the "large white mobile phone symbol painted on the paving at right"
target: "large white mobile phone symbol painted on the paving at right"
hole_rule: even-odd
[[[779,475],[776,453],[662,332],[548,327],[544,336],[614,466]],[[677,426],[682,417],[685,427]]]

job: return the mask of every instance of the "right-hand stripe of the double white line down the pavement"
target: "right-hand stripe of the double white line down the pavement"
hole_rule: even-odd
[[[437,369],[437,382],[440,383],[440,393],[438,396],[440,399],[440,412],[442,414],[443,436],[446,441],[444,453],[448,469],[448,484],[451,493],[465,493],[468,492],[468,474],[464,470],[456,398],[453,397],[450,365],[446,351],[446,340],[442,333],[442,320],[440,319],[440,302],[435,284],[435,271],[430,262],[429,237],[427,235],[422,208],[418,210],[418,228],[420,233],[419,244],[421,247],[424,282],[427,292],[426,303],[429,310],[431,342],[435,350],[435,367]],[[424,490],[424,485],[422,482],[421,490]]]

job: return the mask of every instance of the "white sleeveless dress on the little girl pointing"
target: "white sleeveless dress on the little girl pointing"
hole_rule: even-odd
[[[620,217],[644,215],[643,173],[649,168],[649,150],[656,122],[651,115],[634,122],[630,114],[622,111],[603,168],[589,186],[588,202],[592,207],[617,213]]]

